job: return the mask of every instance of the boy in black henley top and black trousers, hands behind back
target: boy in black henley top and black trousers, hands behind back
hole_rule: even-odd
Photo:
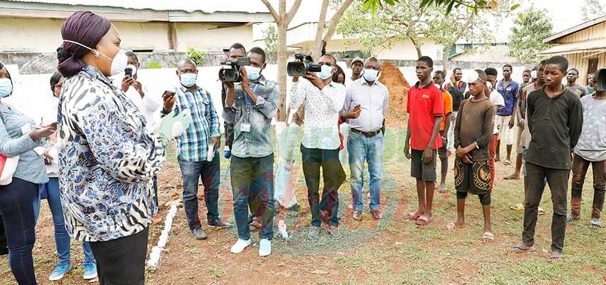
[[[568,69],[568,60],[553,56],[545,63],[545,87],[528,95],[528,129],[530,145],[526,155],[526,181],[523,242],[513,247],[515,252],[534,252],[537,210],[545,178],[551,191],[553,217],[551,219],[550,261],[563,257],[566,234],[566,196],[570,175],[571,152],[579,140],[583,113],[582,105],[575,93],[562,85]]]

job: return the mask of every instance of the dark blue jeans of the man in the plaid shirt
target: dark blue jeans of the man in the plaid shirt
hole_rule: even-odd
[[[183,208],[190,229],[202,227],[200,217],[197,217],[197,184],[200,180],[204,186],[204,202],[208,209],[207,222],[219,222],[219,152],[215,152],[212,161],[187,161],[181,157],[178,157],[178,161],[183,174]]]

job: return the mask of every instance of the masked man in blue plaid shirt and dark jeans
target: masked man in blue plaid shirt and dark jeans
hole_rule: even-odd
[[[221,133],[219,116],[207,90],[197,86],[197,67],[189,58],[177,64],[180,85],[175,92],[165,91],[161,115],[190,112],[191,125],[177,140],[177,159],[183,175],[183,207],[195,239],[206,239],[197,214],[197,185],[202,180],[204,202],[208,209],[208,227],[227,228],[231,224],[219,219],[219,152]]]

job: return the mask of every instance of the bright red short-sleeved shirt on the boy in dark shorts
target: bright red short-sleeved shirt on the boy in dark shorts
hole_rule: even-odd
[[[409,113],[409,125],[411,134],[411,148],[413,150],[424,150],[429,140],[436,117],[444,115],[444,103],[440,90],[429,83],[427,86],[419,87],[417,82],[409,89],[408,105],[406,112]],[[442,147],[442,140],[433,142],[433,150]]]

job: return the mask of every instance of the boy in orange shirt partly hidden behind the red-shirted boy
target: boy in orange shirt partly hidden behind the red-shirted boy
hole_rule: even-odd
[[[440,89],[442,93],[442,101],[444,103],[444,115],[442,123],[440,123],[440,137],[442,147],[438,149],[438,157],[440,157],[440,189],[438,192],[446,193],[446,175],[448,174],[448,130],[451,129],[451,118],[453,116],[453,98],[448,90],[443,88],[446,73],[444,71],[436,71],[433,73],[433,84]]]

